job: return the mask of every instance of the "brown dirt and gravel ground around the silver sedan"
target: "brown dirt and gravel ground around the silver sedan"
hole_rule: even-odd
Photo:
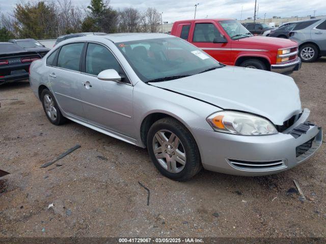
[[[326,129],[326,58],[292,77],[311,121]],[[0,99],[0,168],[11,172],[0,180],[0,237],[326,236],[325,139],[313,159],[277,175],[203,170],[176,182],[145,149],[73,122],[50,124],[28,82],[0,86]],[[77,143],[62,166],[39,168]],[[138,181],[150,189],[149,206]]]

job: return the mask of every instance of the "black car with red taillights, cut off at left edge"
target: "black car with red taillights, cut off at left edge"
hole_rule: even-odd
[[[37,52],[26,51],[11,42],[0,42],[0,85],[28,79],[31,63],[39,58]]]

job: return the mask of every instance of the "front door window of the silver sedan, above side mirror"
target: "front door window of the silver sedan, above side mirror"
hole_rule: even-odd
[[[101,71],[108,69],[114,69],[119,74],[123,73],[111,51],[102,45],[89,43],[86,52],[86,73],[98,75]]]

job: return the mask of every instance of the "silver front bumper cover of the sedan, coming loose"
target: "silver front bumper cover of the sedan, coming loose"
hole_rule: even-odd
[[[291,132],[240,136],[194,129],[202,164],[207,170],[242,176],[279,173],[308,160],[322,142],[322,130],[313,124],[298,137]],[[301,125],[299,125],[300,127]]]

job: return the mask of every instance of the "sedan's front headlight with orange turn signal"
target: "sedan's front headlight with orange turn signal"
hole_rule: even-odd
[[[278,131],[267,119],[248,113],[221,111],[207,117],[215,131],[237,135],[271,135]]]

